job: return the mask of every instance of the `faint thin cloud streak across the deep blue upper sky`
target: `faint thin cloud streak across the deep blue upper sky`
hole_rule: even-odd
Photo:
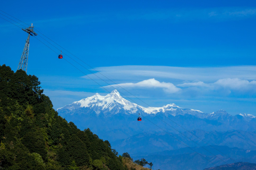
[[[149,12],[140,11],[134,13],[134,11],[116,12],[116,13],[101,13],[101,14],[88,14],[88,15],[74,15],[66,17],[51,17],[42,18],[37,21],[33,21],[36,25],[42,25],[47,23],[62,25],[74,25],[84,24],[92,22],[103,21],[116,21],[116,20],[145,20],[145,21],[173,21],[173,22],[185,22],[191,20],[209,20],[209,21],[223,21],[223,20],[241,20],[247,17],[255,17],[256,8],[250,7],[222,7],[222,8],[198,8],[198,9],[165,9],[161,11]],[[77,22],[79,20],[79,22]],[[65,21],[65,23],[63,23]],[[51,24],[51,25],[52,25]],[[10,24],[8,24],[9,26]],[[0,24],[0,27],[4,27],[6,24]]]

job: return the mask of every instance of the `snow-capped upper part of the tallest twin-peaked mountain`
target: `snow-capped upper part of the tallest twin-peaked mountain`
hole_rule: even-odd
[[[79,111],[80,110],[80,111]],[[205,118],[208,114],[205,114],[199,110],[181,108],[174,103],[165,105],[163,107],[142,107],[135,103],[131,103],[124,99],[117,90],[113,90],[106,96],[101,96],[98,93],[82,99],[80,101],[73,102],[70,105],[66,105],[57,109],[58,112],[67,112],[74,114],[74,112],[86,111],[95,112],[96,114],[103,113],[105,115],[113,115],[118,113],[136,114],[156,114],[164,113],[172,116],[190,114],[199,118]],[[74,112],[73,112],[74,111]]]

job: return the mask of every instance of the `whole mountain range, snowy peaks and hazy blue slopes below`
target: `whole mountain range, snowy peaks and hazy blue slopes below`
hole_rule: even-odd
[[[200,148],[216,145],[237,147],[245,151],[256,150],[256,118],[249,114],[232,116],[224,110],[208,114],[199,110],[181,108],[173,103],[163,107],[146,108],[124,99],[117,90],[106,96],[96,93],[57,111],[67,121],[74,122],[78,128],[90,128],[100,138],[109,140],[112,147],[120,154],[128,152],[134,158],[144,156],[152,162],[161,161],[157,156],[150,155],[157,153],[161,157],[165,151],[169,153],[168,151],[187,146]],[[137,121],[139,114],[142,116],[141,122]],[[255,154],[255,152],[251,153]],[[180,159],[193,160],[190,157],[197,154],[192,152],[181,155]],[[166,156],[173,157],[173,155]],[[229,163],[233,163],[230,160],[227,159]],[[246,160],[236,157],[236,161]],[[200,164],[200,161],[197,163]],[[223,164],[223,162],[217,163]],[[178,162],[170,162],[170,164],[176,168],[182,165]],[[194,168],[203,169],[212,166],[207,163],[201,165]],[[159,163],[156,167],[173,169],[163,166]]]

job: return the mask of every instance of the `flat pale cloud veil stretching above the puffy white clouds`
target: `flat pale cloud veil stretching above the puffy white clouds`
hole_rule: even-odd
[[[143,66],[126,65],[95,68],[101,74],[110,77],[118,83],[142,81],[155,78],[157,80],[174,79],[179,84],[198,82],[213,83],[219,79],[239,78],[242,80],[256,80],[256,66],[230,66],[230,67],[170,67],[170,66]],[[102,79],[106,79],[100,73],[95,73]],[[88,74],[94,79],[98,77]],[[87,78],[83,76],[83,78]],[[188,81],[188,82],[184,82]]]

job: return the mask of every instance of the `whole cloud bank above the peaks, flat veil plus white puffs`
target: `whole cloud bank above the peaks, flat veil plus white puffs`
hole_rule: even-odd
[[[146,93],[145,89],[150,88],[154,88],[154,91],[162,89],[166,94],[179,94],[183,97],[227,96],[232,92],[241,95],[256,94],[256,66],[114,66],[100,67],[96,70],[107,77],[111,75],[111,79],[115,78],[114,82],[118,85],[109,82],[112,87],[143,89],[140,92],[136,91],[143,95]],[[105,77],[101,74],[96,73],[97,76],[104,79]],[[90,76],[94,75],[90,74]],[[94,76],[94,78],[97,77]],[[121,90],[121,88],[119,89]]]

